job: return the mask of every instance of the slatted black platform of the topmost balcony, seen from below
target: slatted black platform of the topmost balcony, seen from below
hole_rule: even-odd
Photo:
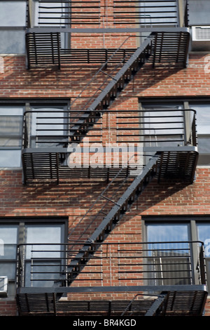
[[[29,29],[26,34],[27,62],[28,68],[54,66],[60,68],[62,65],[72,64],[97,64],[116,63],[129,59],[136,48],[69,48],[61,47],[60,33],[68,31],[71,33],[132,33],[130,29]],[[90,32],[89,32],[90,31]],[[110,31],[110,32],[109,32]],[[150,62],[175,63],[186,66],[188,60],[188,48],[190,33],[187,28],[153,28],[153,29],[131,29],[134,32],[153,34],[153,55]],[[137,39],[137,38],[136,38]],[[134,41],[135,43],[135,41]],[[114,55],[113,55],[114,54]]]

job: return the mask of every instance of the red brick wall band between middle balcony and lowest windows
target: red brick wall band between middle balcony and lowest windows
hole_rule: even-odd
[[[139,197],[139,215],[209,214],[210,169],[197,169],[192,185],[155,180]],[[118,186],[118,183],[116,183]],[[71,180],[60,183],[22,185],[19,170],[0,171],[0,216],[82,216],[106,187],[106,180]],[[126,218],[126,216],[125,216]],[[74,219],[73,219],[74,221]],[[69,222],[71,220],[69,219]],[[120,228],[121,230],[122,228]]]

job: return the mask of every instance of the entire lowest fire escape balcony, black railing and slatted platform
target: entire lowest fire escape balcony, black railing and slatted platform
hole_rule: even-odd
[[[208,293],[202,242],[85,242],[86,265],[78,261],[84,241],[69,242],[18,247],[20,315],[202,315]]]

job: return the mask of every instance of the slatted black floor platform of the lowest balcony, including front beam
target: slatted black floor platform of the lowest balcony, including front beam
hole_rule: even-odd
[[[51,291],[51,292],[50,292]],[[207,299],[207,286],[119,286],[80,288],[22,288],[17,294],[20,315],[77,315],[77,316],[146,316],[161,293],[166,293],[161,316],[202,316]],[[153,293],[153,292],[156,293]],[[157,295],[157,291],[159,291]],[[65,300],[63,293],[122,293],[132,292],[138,300]],[[151,292],[151,296],[148,293]],[[144,295],[145,293],[145,295]],[[157,296],[155,296],[155,294]],[[157,311],[156,311],[157,312]],[[155,315],[155,313],[154,313]],[[151,315],[153,316],[153,315]],[[157,313],[158,316],[158,313]]]

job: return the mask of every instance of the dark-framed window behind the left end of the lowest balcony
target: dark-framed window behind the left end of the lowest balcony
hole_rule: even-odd
[[[62,249],[59,244],[65,242],[65,226],[65,219],[15,220],[9,218],[7,221],[1,219],[0,276],[8,277],[12,295],[16,282],[17,244],[28,244],[22,247],[22,253],[25,253],[25,286],[52,286],[62,267],[62,252],[60,252]],[[48,244],[48,252],[43,253],[42,244]],[[31,265],[32,257],[34,258],[33,265]],[[41,274],[43,266],[45,272],[48,269],[48,275]]]

